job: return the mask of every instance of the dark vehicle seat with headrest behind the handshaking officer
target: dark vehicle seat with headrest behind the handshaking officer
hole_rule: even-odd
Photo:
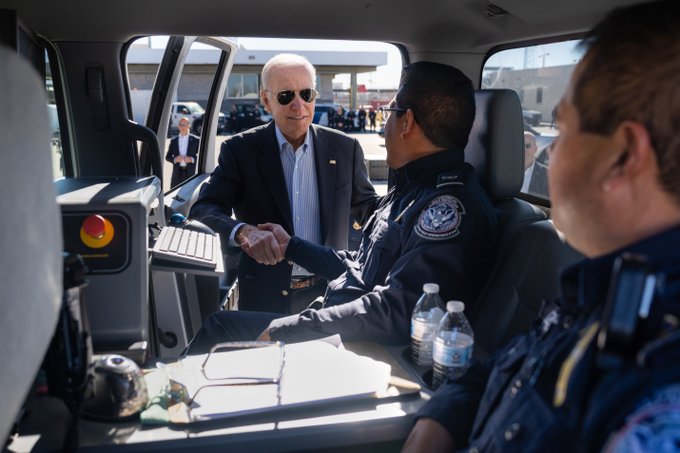
[[[517,198],[524,178],[522,107],[512,90],[475,92],[477,114],[465,158],[496,208],[498,254],[480,297],[467,311],[475,355],[484,359],[529,329],[544,300],[558,292],[558,274],[581,256],[545,213]]]

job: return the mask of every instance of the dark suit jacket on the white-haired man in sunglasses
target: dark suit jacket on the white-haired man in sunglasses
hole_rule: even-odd
[[[312,125],[311,133],[322,242],[346,249],[350,212],[363,224],[375,210],[378,196],[368,180],[364,153],[356,139],[317,125]],[[289,234],[295,233],[274,122],[222,143],[219,165],[201,189],[190,217],[217,231],[223,245],[228,244],[239,222],[273,222]],[[240,308],[286,312],[291,271],[292,264],[286,261],[265,266],[244,253],[238,267]]]

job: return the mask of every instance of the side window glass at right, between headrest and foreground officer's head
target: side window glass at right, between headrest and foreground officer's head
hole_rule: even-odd
[[[524,184],[522,192],[549,199],[548,146],[558,134],[556,106],[582,57],[578,41],[503,50],[486,61],[482,88],[517,92],[524,118]]]

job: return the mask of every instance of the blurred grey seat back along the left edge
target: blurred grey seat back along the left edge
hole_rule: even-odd
[[[61,213],[52,173],[45,83],[0,46],[0,442],[40,367],[62,297]]]

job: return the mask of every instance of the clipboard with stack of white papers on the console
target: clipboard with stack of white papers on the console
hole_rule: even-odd
[[[223,343],[210,354],[159,364],[170,387],[175,385],[174,399],[181,400],[168,408],[170,424],[196,425],[339,404],[382,403],[419,393],[418,384],[392,376],[387,363],[348,351],[338,343]]]

